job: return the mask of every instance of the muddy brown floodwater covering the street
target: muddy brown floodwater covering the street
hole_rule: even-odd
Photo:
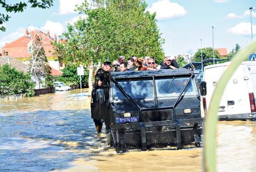
[[[201,171],[201,148],[106,148],[79,91],[0,102],[0,171]],[[218,171],[255,171],[256,122],[219,122],[217,151]]]

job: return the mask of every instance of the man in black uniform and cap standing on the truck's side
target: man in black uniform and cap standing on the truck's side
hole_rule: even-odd
[[[91,118],[94,119],[96,131],[101,132],[103,120],[105,121],[106,131],[108,132],[108,100],[109,100],[109,71],[112,70],[111,62],[104,62],[103,69],[98,69],[95,75],[94,88],[92,89]],[[103,89],[105,102],[97,102],[96,90]]]

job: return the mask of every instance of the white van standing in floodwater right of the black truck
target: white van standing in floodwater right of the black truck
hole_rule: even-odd
[[[220,76],[231,62],[206,66],[203,81],[207,95],[203,98],[205,112],[210,105],[213,91]],[[245,120],[256,118],[256,62],[243,62],[230,78],[219,105],[220,120]]]

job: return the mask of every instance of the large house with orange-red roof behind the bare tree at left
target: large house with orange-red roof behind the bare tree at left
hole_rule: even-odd
[[[15,58],[16,60],[19,60],[20,62],[26,63],[28,60],[31,59],[32,41],[33,38],[35,38],[36,34],[43,41],[45,55],[51,67],[51,75],[61,76],[62,72],[60,71],[60,69],[62,66],[60,66],[57,57],[53,55],[54,49],[51,45],[51,42],[55,41],[57,36],[54,35],[54,38],[51,37],[49,30],[47,30],[47,33],[44,33],[37,29],[31,32],[28,32],[28,29],[25,29],[25,35],[5,44],[2,47],[0,53],[3,56],[9,56],[11,58]]]

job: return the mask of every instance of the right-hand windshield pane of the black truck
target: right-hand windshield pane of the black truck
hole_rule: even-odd
[[[156,95],[159,97],[177,98],[189,81],[188,77],[155,79]],[[188,83],[183,95],[197,96],[197,88],[193,79]]]

